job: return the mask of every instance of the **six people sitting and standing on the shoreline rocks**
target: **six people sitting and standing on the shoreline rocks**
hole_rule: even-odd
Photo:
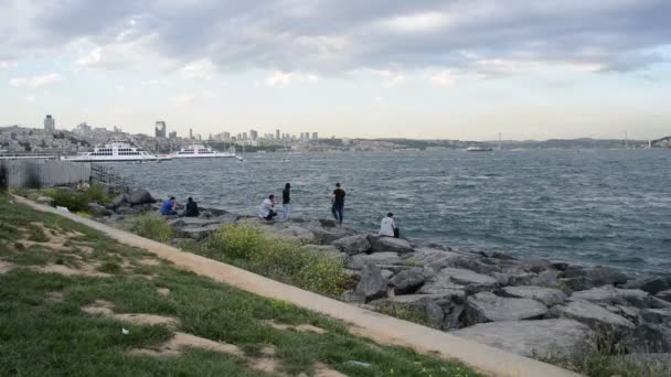
[[[333,218],[338,222],[339,225],[342,225],[342,219],[344,215],[344,198],[347,193],[340,186],[340,183],[336,183],[336,190],[331,195],[331,213],[333,214]],[[258,216],[265,220],[271,220],[275,217],[279,216],[279,212],[276,209],[277,203],[275,202],[275,195],[270,194],[268,197],[264,198],[259,208]],[[289,220],[289,216],[291,215],[291,184],[285,184],[285,188],[281,192],[281,219],[287,222]],[[161,215],[166,216],[185,216],[185,217],[195,217],[200,214],[198,204],[193,201],[192,197],[189,197],[187,202],[185,209],[182,214],[177,212],[177,200],[174,196],[168,197],[161,205],[160,209]],[[400,237],[398,227],[394,222],[394,214],[387,213],[386,216],[382,219],[380,224],[380,236],[386,237]]]

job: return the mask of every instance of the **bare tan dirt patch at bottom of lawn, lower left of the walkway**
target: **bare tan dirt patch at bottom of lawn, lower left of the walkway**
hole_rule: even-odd
[[[174,336],[168,342],[155,348],[139,348],[130,351],[131,355],[148,355],[148,356],[178,356],[181,351],[187,347],[201,348],[236,356],[245,356],[245,353],[236,345],[214,342],[204,337],[175,332]]]

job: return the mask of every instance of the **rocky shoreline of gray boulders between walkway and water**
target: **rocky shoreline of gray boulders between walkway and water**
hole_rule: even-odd
[[[159,206],[146,191],[90,205],[108,224]],[[227,224],[298,238],[303,248],[341,260],[356,281],[340,300],[415,313],[424,324],[524,356],[581,360],[604,347],[642,358],[671,352],[671,276],[519,260],[361,234],[331,220],[265,222],[202,208],[199,217],[168,222],[174,245],[205,241]]]

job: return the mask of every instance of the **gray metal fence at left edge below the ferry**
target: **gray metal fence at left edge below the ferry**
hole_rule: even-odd
[[[53,187],[90,179],[88,162],[3,160],[0,165],[9,187]]]

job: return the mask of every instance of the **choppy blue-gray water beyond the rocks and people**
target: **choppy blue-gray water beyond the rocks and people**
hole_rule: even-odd
[[[295,216],[330,218],[336,182],[345,223],[466,249],[629,270],[671,267],[671,151],[359,152],[249,154],[119,166],[155,194],[256,214],[292,185]]]

